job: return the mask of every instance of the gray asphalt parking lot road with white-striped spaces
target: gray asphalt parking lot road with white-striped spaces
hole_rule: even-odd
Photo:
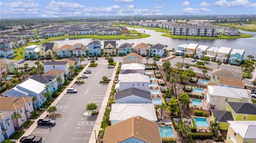
[[[33,133],[35,136],[42,136],[43,142],[89,142],[93,132],[97,116],[84,116],[86,105],[96,103],[98,110],[105,96],[108,85],[99,83],[103,75],[111,77],[113,69],[107,69],[107,63],[99,64],[95,68],[89,68],[92,74],[84,79],[84,85],[74,85],[78,92],[76,94],[64,95],[57,104],[58,113],[63,116],[57,119],[54,127],[37,127]]]

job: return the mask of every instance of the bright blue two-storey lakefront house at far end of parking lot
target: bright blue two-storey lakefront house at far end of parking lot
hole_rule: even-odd
[[[101,43],[99,40],[93,40],[88,44],[89,55],[101,55]]]

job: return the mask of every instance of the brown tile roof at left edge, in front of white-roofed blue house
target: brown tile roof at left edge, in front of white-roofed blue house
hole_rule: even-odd
[[[32,97],[0,97],[0,111],[16,111],[22,108]]]

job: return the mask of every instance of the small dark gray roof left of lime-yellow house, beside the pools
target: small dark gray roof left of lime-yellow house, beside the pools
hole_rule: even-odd
[[[231,112],[222,110],[212,110],[213,116],[218,122],[234,121]]]

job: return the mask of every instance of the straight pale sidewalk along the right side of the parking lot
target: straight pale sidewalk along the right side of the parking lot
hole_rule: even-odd
[[[111,81],[109,82],[108,89],[106,91],[106,94],[105,94],[104,99],[102,101],[102,104],[100,106],[100,111],[99,111],[97,120],[95,121],[95,125],[93,127],[89,143],[95,143],[95,141],[96,141],[95,136],[96,136],[96,138],[98,138],[98,134],[99,134],[99,131],[101,129],[100,128],[101,121],[103,120],[103,116],[104,116],[104,113],[105,113],[105,110],[106,110],[106,107],[107,107],[107,104],[108,104],[108,99],[109,99],[111,88],[113,86],[113,82],[114,82],[114,79],[115,79],[115,76],[116,76],[116,70],[117,70],[118,65],[119,65],[119,62],[116,63],[116,67],[114,68],[114,71],[111,75]]]

